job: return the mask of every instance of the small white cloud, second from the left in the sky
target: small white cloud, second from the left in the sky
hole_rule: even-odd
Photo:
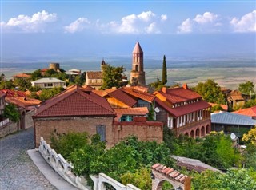
[[[66,32],[74,33],[85,29],[90,25],[90,21],[87,18],[78,18],[76,21],[70,23],[69,26],[64,26]]]

